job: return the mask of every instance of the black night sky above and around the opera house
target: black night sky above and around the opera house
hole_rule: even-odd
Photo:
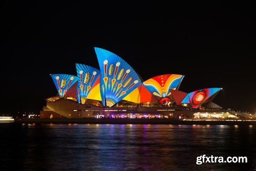
[[[0,112],[39,112],[57,94],[51,73],[99,68],[94,47],[144,80],[182,74],[179,90],[222,87],[215,103],[256,111],[254,4],[128,2],[4,2]]]

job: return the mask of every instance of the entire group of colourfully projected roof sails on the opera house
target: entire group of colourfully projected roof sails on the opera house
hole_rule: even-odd
[[[101,48],[95,47],[94,50],[100,69],[76,63],[77,76],[50,74],[59,97],[49,98],[48,101],[66,98],[87,104],[90,99],[90,104],[112,107],[123,100],[137,104],[154,102],[165,106],[188,104],[190,109],[197,109],[203,103],[211,102],[221,90],[208,88],[191,93],[179,91],[184,78],[184,75],[179,74],[163,74],[142,81],[135,70],[118,55]]]

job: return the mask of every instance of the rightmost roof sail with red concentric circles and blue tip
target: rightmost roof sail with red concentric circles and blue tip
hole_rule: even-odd
[[[181,103],[190,103],[192,108],[198,108],[205,100],[207,100],[212,95],[218,93],[220,90],[221,88],[208,88],[197,90],[188,93]]]

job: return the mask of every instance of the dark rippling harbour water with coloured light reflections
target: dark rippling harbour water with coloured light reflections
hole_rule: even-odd
[[[255,125],[0,123],[0,142],[0,170],[256,170]]]

